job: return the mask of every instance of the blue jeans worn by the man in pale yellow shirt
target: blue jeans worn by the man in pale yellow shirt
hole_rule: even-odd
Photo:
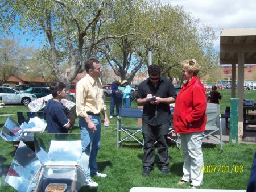
[[[88,128],[84,118],[79,118],[79,127],[81,128],[81,140],[82,140],[82,151],[84,152],[86,148],[90,147],[90,158],[89,166],[86,172],[86,178],[91,178],[90,175],[94,174],[98,170],[96,157],[98,149],[100,149],[100,139],[101,139],[101,123],[100,116],[88,115],[90,120],[95,124],[97,130],[91,131]]]

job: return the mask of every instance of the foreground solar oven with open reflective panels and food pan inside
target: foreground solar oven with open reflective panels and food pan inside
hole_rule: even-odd
[[[51,187],[79,191],[89,164],[89,150],[82,152],[81,135],[37,133],[34,139],[36,153],[20,142],[6,182],[22,192]]]

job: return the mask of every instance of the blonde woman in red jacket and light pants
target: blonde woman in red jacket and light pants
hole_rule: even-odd
[[[174,110],[174,129],[180,133],[184,155],[183,177],[179,185],[191,182],[189,188],[202,185],[204,165],[202,153],[203,132],[206,124],[207,99],[203,84],[197,78],[199,64],[195,59],[181,63],[182,74],[187,80],[177,95]]]

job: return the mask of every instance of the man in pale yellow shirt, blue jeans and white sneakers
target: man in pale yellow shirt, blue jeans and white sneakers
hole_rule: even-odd
[[[103,100],[102,83],[100,80],[101,65],[94,57],[85,61],[86,76],[76,85],[76,113],[79,116],[81,128],[82,151],[90,147],[89,166],[86,172],[85,184],[97,187],[91,176],[106,177],[107,175],[98,170],[96,158],[100,149],[101,137],[101,114],[104,116],[104,125],[109,125],[106,105]]]

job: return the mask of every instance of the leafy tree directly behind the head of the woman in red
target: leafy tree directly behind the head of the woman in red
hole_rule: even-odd
[[[196,59],[201,70],[199,77],[218,64],[213,41],[216,35],[212,28],[199,27],[199,20],[193,19],[190,14],[179,6],[158,6],[159,45],[153,55],[154,62],[162,66],[164,76],[171,80],[176,78],[180,84],[181,61]]]

